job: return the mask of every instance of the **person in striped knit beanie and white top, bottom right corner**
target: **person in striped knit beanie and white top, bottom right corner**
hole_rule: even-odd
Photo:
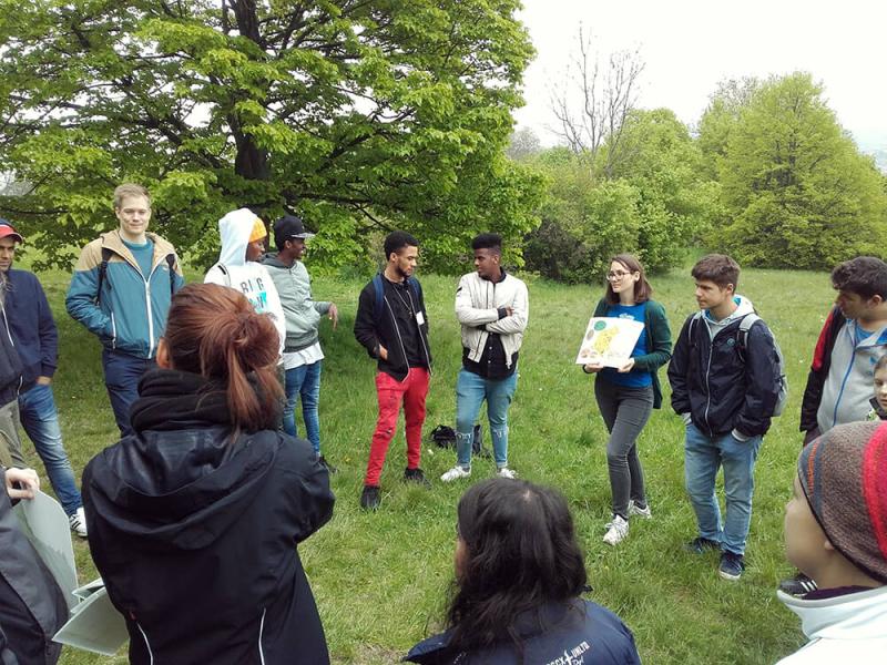
[[[809,640],[779,665],[887,661],[887,423],[839,424],[804,448],[784,536],[819,589],[777,592]]]

